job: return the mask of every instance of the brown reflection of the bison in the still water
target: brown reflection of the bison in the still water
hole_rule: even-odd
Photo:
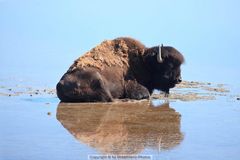
[[[169,104],[60,103],[57,119],[80,142],[104,154],[137,154],[144,148],[170,149],[183,139],[181,115]]]

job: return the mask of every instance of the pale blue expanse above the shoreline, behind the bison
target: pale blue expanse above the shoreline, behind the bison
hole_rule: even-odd
[[[54,83],[101,41],[131,36],[181,51],[185,80],[240,84],[239,6],[237,0],[0,0],[0,76]]]

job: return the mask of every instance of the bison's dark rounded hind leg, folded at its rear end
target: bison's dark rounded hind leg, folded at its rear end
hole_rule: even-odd
[[[103,77],[96,71],[76,70],[66,73],[57,84],[63,102],[111,102],[112,96]]]

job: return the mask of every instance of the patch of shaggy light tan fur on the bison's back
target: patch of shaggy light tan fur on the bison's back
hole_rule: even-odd
[[[129,45],[121,39],[105,40],[75,60],[71,68],[128,67]]]

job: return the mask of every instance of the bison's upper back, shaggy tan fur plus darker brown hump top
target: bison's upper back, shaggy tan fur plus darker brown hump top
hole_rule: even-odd
[[[132,38],[106,40],[75,60],[69,70],[93,67],[101,71],[117,67],[127,70],[129,57],[143,54],[145,46]]]

